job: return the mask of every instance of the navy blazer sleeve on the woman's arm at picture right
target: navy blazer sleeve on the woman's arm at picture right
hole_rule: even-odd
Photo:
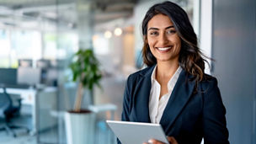
[[[204,95],[203,131],[205,144],[229,144],[226,109],[216,78],[210,81]]]

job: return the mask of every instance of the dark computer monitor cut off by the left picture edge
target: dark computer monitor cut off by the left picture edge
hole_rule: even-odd
[[[0,86],[11,87],[17,85],[16,68],[0,68]]]

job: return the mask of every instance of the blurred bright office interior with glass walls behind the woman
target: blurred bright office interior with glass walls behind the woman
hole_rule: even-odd
[[[87,48],[99,59],[103,78],[93,97],[85,93],[82,107],[101,109],[94,143],[115,143],[104,120],[120,120],[125,79],[143,67],[141,21],[160,2],[0,0],[0,93],[6,91],[13,105],[21,100],[11,119],[21,127],[13,136],[1,129],[0,116],[0,143],[67,143],[63,112],[73,108],[77,93],[69,64],[74,53]],[[189,14],[201,50],[215,59],[205,72],[218,79],[229,141],[256,143],[256,1],[172,2]]]

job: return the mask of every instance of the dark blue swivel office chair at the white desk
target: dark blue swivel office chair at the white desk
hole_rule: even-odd
[[[27,132],[29,132],[29,128],[22,126],[22,125],[12,125],[11,119],[15,115],[19,115],[19,111],[21,108],[21,99],[18,99],[19,105],[13,106],[13,100],[11,99],[10,95],[6,93],[5,88],[3,88],[3,93],[0,93],[0,116],[4,117],[4,125],[0,130],[5,130],[9,134],[12,134],[13,137],[16,137],[16,133],[13,129],[16,128],[24,128]]]

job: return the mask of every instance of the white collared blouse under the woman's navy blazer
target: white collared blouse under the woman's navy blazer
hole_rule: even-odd
[[[151,76],[152,87],[149,97],[149,116],[152,123],[159,124],[163,115],[163,110],[168,103],[168,99],[171,97],[171,93],[173,92],[173,88],[179,78],[179,73],[182,71],[182,68],[179,66],[173,74],[173,77],[170,78],[168,82],[168,93],[164,94],[161,99],[159,99],[161,85],[156,79],[156,68],[157,66],[154,68]]]

